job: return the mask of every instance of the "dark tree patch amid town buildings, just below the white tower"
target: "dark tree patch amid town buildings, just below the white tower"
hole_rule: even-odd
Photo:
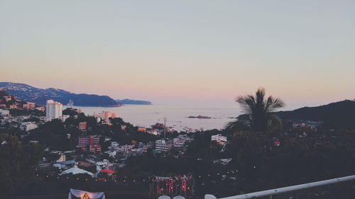
[[[97,119],[91,116],[84,116],[82,113],[77,118],[70,117],[62,123],[60,120],[52,120],[31,130],[30,135],[23,138],[23,142],[38,140],[40,144],[50,147],[54,150],[75,149],[77,137],[80,135],[99,135],[100,143],[107,149],[105,137],[111,137],[111,141],[119,144],[131,144],[132,140],[136,142],[150,142],[158,139],[155,135],[138,132],[138,127],[130,123],[125,123],[121,118],[111,118],[112,125],[97,123]],[[78,130],[79,123],[87,122],[87,131]],[[126,125],[126,130],[121,129],[121,125]],[[70,138],[68,137],[70,134]]]

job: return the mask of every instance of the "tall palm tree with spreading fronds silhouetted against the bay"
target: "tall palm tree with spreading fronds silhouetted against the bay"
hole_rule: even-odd
[[[253,130],[266,130],[268,120],[271,120],[272,112],[278,108],[283,108],[285,103],[280,98],[269,96],[266,98],[266,91],[259,88],[255,96],[239,96],[236,98],[241,109],[246,115],[249,115],[251,127]]]

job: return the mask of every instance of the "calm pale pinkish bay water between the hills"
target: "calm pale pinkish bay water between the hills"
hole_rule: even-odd
[[[68,106],[64,106],[67,108]],[[236,105],[202,106],[202,105],[178,105],[178,104],[154,104],[154,105],[125,105],[121,107],[87,107],[71,106],[80,108],[85,115],[102,112],[102,110],[117,113],[124,121],[141,127],[150,127],[155,123],[163,123],[167,118],[166,125],[174,130],[212,130],[222,129],[224,126],[239,115],[239,107]],[[188,118],[190,115],[203,115],[211,119]]]

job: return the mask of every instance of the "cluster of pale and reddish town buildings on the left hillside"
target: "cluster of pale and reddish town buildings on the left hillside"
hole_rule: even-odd
[[[2,91],[4,93],[4,91]],[[67,108],[62,109],[62,103],[48,100],[45,106],[38,106],[35,103],[24,102],[16,98],[3,94],[0,99],[0,130],[15,130],[21,140],[29,144],[43,144],[40,140],[32,139],[32,133],[41,125],[50,123],[56,120],[65,124],[67,119],[77,119],[80,115],[84,118],[92,117],[97,124],[113,126],[111,120],[119,118],[116,113],[103,110],[101,113],[85,116],[80,109]],[[18,110],[24,110],[26,113],[19,114]],[[31,115],[32,110],[38,110],[38,115]],[[16,113],[16,115],[11,115]],[[63,113],[69,113],[65,115]],[[131,126],[132,127],[132,126]],[[172,133],[172,130],[161,123],[156,123],[151,127],[134,127],[138,134],[147,134],[154,137],[149,142],[137,142],[129,140],[129,143],[119,143],[114,140],[114,137],[99,135],[93,132],[90,135],[87,133],[92,125],[87,121],[79,122],[75,127],[80,131],[77,137],[67,133],[67,141],[75,143],[75,147],[68,147],[66,150],[58,150],[50,145],[47,145],[45,152],[47,156],[42,157],[38,164],[38,169],[48,169],[52,172],[57,169],[58,174],[89,174],[97,178],[103,171],[114,172],[122,168],[129,157],[136,157],[146,154],[148,150],[155,154],[163,154],[171,149],[178,150],[180,156],[186,151],[187,145],[194,140],[193,135],[177,134],[176,137],[160,137],[167,132]],[[127,125],[119,125],[120,131],[126,131]],[[219,137],[222,137],[218,135]],[[25,141],[26,140],[26,141]],[[226,142],[226,137],[222,138]],[[214,138],[212,138],[214,141]],[[216,140],[220,142],[220,140]],[[105,145],[106,147],[102,147]],[[55,159],[53,159],[55,157]],[[88,169],[89,168],[89,169]],[[89,172],[87,170],[92,172]]]

